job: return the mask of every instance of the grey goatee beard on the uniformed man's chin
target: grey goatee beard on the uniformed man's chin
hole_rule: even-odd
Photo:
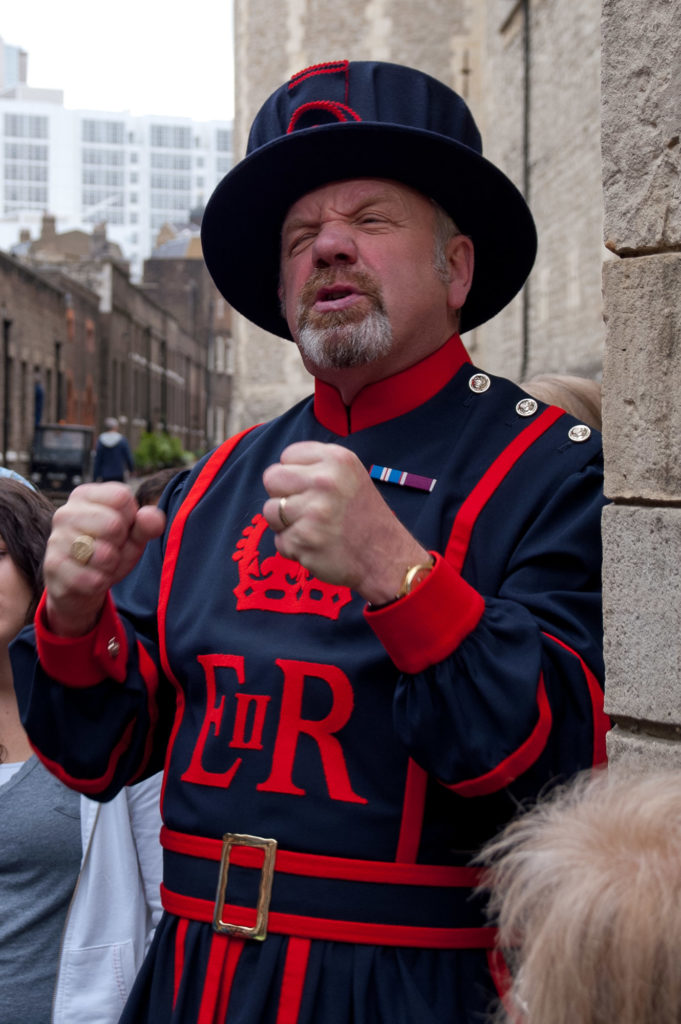
[[[387,355],[392,347],[392,328],[382,309],[371,309],[360,321],[314,327],[299,326],[298,347],[321,370],[365,367]]]

